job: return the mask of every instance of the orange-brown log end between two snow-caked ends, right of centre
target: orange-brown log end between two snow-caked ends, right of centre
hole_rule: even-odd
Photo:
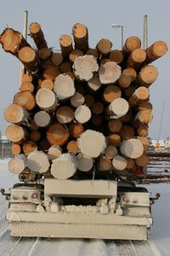
[[[117,98],[121,98],[121,96],[122,96],[122,91],[116,85],[108,85],[107,87],[105,87],[105,90],[103,93],[105,102],[111,103]]]

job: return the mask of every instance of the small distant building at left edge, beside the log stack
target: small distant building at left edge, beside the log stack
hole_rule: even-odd
[[[1,136],[0,135],[0,158],[9,158],[11,157],[11,152],[10,152],[10,147],[11,147],[11,143],[8,140],[7,137],[5,136]]]

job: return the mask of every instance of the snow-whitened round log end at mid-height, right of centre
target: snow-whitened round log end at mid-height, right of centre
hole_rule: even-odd
[[[127,113],[129,109],[128,102],[123,98],[117,98],[109,105],[109,110],[111,111],[111,116],[114,119],[119,119]]]

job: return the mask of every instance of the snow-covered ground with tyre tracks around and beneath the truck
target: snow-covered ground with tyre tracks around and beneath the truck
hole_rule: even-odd
[[[0,160],[0,188],[8,188],[17,177],[8,172],[8,160]],[[161,199],[152,207],[154,225],[149,241],[103,241],[97,239],[49,239],[10,237],[5,220],[7,201],[0,196],[0,255],[1,256],[151,256],[170,255],[170,184],[144,185]]]

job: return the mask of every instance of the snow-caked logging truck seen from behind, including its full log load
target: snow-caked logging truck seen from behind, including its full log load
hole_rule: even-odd
[[[144,177],[149,157],[150,65],[167,52],[138,37],[122,50],[101,38],[88,45],[88,28],[63,34],[60,52],[48,48],[41,26],[29,26],[32,48],[6,28],[0,44],[25,66],[20,91],[4,111],[14,157],[8,170],[20,183],[6,193],[11,236],[146,240],[155,198],[133,180]]]

